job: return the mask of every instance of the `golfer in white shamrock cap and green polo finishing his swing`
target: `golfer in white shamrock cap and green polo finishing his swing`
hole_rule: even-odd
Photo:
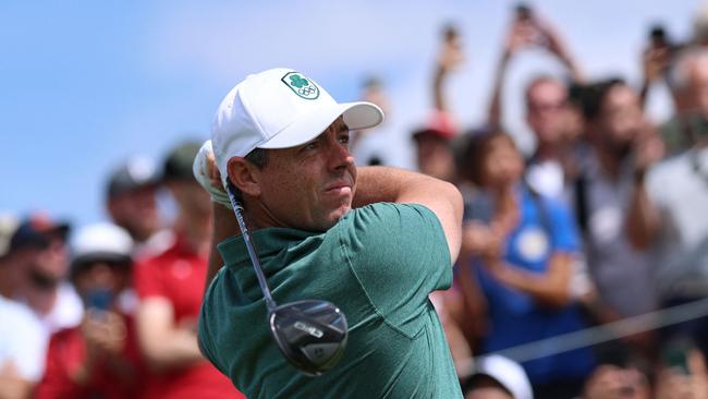
[[[217,110],[195,160],[223,240],[199,344],[248,398],[462,397],[428,301],[452,282],[462,197],[423,174],[357,169],[350,130],[382,120],[290,69],[246,77]]]

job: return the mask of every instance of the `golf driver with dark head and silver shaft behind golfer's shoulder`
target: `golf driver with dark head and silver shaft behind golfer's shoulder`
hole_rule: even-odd
[[[227,192],[246,243],[248,256],[263,291],[270,331],[285,359],[309,376],[332,368],[344,354],[349,328],[339,307],[327,301],[304,300],[278,305],[270,293],[251,233],[243,219],[243,206],[236,200],[235,188],[227,182]]]

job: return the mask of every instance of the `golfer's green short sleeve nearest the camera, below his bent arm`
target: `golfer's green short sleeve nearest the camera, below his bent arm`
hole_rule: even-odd
[[[341,226],[342,249],[377,311],[408,336],[422,328],[428,294],[450,288],[452,261],[437,216],[423,205],[380,203]]]

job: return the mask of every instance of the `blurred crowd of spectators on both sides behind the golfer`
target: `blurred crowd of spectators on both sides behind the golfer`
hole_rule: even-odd
[[[708,21],[682,44],[651,29],[634,87],[588,78],[536,11],[514,10],[487,121],[468,130],[445,96],[465,62],[462,33],[447,26],[432,109],[410,132],[418,170],[465,201],[454,285],[430,297],[465,396],[708,398],[708,312],[567,343],[708,298]],[[537,144],[525,155],[502,122],[502,94],[529,47],[566,73],[528,71],[525,121]],[[657,124],[644,105],[660,81],[674,113]],[[363,97],[395,107],[376,78]],[[386,164],[377,134],[355,132],[357,164]],[[159,167],[130,158],[117,168],[105,186],[110,222],[0,218],[0,398],[240,397],[196,340],[211,231],[208,194],[192,176],[199,145],[180,143]],[[171,226],[159,190],[176,204]]]

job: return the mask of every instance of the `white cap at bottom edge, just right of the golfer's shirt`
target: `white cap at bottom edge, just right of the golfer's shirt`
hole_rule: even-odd
[[[521,364],[499,354],[480,356],[475,361],[475,375],[488,375],[495,378],[514,399],[534,399],[534,390],[526,372]]]

